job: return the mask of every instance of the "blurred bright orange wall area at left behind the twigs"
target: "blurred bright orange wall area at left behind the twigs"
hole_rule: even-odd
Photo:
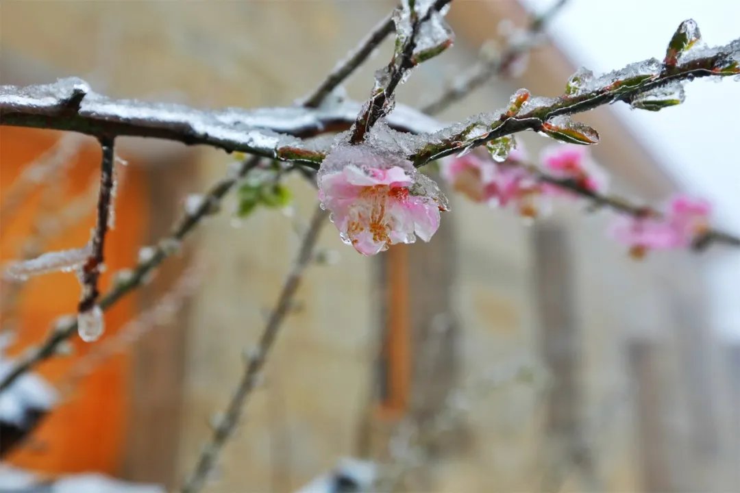
[[[53,146],[61,134],[35,129],[0,128],[0,193],[11,186],[27,163]],[[101,150],[94,142],[86,143],[71,163],[71,169],[53,183],[37,187],[26,197],[16,214],[5,217],[0,224],[0,262],[16,259],[32,231],[39,214],[53,217],[73,197],[84,194],[93,174],[100,166]],[[133,265],[147,231],[147,193],[144,171],[127,166],[118,171],[126,174],[124,185],[116,198],[115,230],[105,242],[107,270],[101,276],[101,291],[110,287],[112,274],[119,268]],[[41,189],[38,189],[41,188]],[[41,194],[54,194],[51,214],[41,211]],[[79,217],[73,225],[50,239],[42,251],[75,248],[84,245],[95,225],[95,206]],[[47,335],[53,321],[61,315],[74,313],[80,288],[72,273],[50,273],[30,279],[24,285],[18,305],[18,330],[10,356],[20,353],[32,344],[38,344]],[[1,307],[7,315],[8,307]],[[106,335],[135,315],[135,297],[119,302],[105,314]],[[104,336],[104,337],[105,337]],[[44,362],[39,372],[52,383],[58,383],[74,364],[95,345],[73,338],[73,354],[59,356]],[[81,380],[70,395],[53,409],[33,436],[16,449],[10,462],[44,472],[101,471],[115,473],[122,460],[127,422],[129,391],[128,354],[116,356],[92,375]]]

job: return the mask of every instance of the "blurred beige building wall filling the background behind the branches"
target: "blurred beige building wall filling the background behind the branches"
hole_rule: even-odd
[[[78,75],[120,98],[214,108],[286,105],[318,84],[393,4],[4,1],[0,82]],[[454,48],[417,69],[398,101],[431,101],[476,61],[484,41],[497,37],[499,21],[525,24],[513,0],[459,2],[448,18],[457,34]],[[352,98],[366,97],[390,47],[386,41],[351,78]],[[571,72],[561,53],[538,49],[521,77],[491,81],[440,118],[497,108],[520,86],[559,95]],[[677,191],[609,109],[582,120],[602,135],[593,152],[610,171],[614,190],[651,203]],[[4,147],[11,134],[2,132]],[[24,138],[20,131],[12,135]],[[532,155],[548,143],[535,135],[523,140]],[[218,180],[231,158],[134,139],[121,147],[137,175],[126,186],[135,188],[129,200],[136,200],[138,214],[129,214],[117,231],[126,236],[135,229],[132,237],[140,241],[121,253],[133,259],[133,245],[166,234],[186,194]],[[306,220],[314,189],[297,178],[289,184],[295,214]],[[124,198],[118,202],[123,211],[131,206]],[[115,430],[84,429],[78,443],[94,443],[107,432],[122,438],[105,463],[80,458],[70,469],[175,486],[194,463],[297,246],[295,219],[258,211],[235,221],[233,205],[209,219],[121,314],[118,325],[156,304],[187,265],[205,266],[201,287],[173,321],[119,361],[121,395],[105,390],[105,381],[87,389],[90,407],[98,410],[86,419],[102,419],[110,407],[120,415],[111,421]],[[734,381],[739,378],[738,350],[724,347],[709,328],[705,260],[678,252],[634,262],[607,239],[608,217],[563,205],[525,225],[511,211],[453,197],[452,212],[430,244],[394,247],[374,259],[342,245],[326,227],[321,248],[337,251],[340,260],[308,271],[263,387],[226,446],[209,491],[291,491],[346,455],[411,460],[411,491],[740,488],[740,429],[732,412],[740,401],[737,385],[734,393],[729,386],[731,368]],[[84,242],[84,231],[74,241]],[[28,313],[44,302],[40,296],[26,302],[21,334]],[[35,319],[33,337],[21,336],[23,344],[41,339],[52,318]],[[63,371],[54,364],[41,370],[52,380]],[[81,395],[64,405],[74,406]],[[440,414],[448,422],[438,424]],[[51,413],[47,420],[53,419]],[[425,436],[408,453],[423,450],[420,466],[415,456],[388,446],[418,427]],[[30,443],[36,449],[21,454],[33,460],[19,461],[52,472],[59,468],[44,457],[72,446]]]

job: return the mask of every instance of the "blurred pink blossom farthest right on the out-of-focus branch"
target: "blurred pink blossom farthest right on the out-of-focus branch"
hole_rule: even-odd
[[[665,215],[656,217],[620,216],[611,228],[611,235],[630,246],[630,254],[642,257],[648,250],[686,248],[709,229],[711,205],[677,195],[667,205]]]

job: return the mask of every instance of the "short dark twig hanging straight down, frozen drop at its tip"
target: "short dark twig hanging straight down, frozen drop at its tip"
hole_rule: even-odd
[[[104,246],[105,237],[108,232],[108,219],[110,218],[110,197],[113,189],[113,138],[103,138],[100,141],[103,150],[100,167],[100,189],[98,191],[98,220],[90,240],[90,256],[82,266],[81,279],[82,294],[77,307],[79,313],[92,310],[98,300],[98,278],[105,262]]]

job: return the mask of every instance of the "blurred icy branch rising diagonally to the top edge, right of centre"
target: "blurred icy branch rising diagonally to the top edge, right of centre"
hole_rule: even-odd
[[[529,50],[536,47],[542,38],[548,22],[562,9],[568,0],[558,0],[548,10],[533,16],[521,35],[509,38],[506,47],[496,55],[482,56],[477,64],[462,72],[435,101],[428,103],[421,111],[427,115],[437,115],[451,104],[479,88],[491,78],[504,76]]]

